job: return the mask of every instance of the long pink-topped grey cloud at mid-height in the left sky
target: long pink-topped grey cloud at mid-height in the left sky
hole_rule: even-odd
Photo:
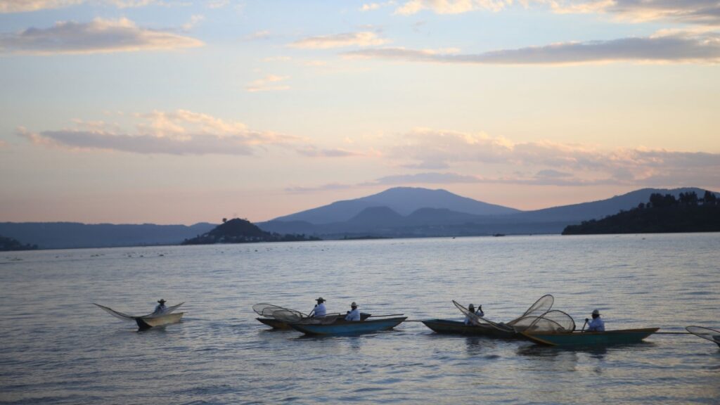
[[[135,130],[103,122],[76,121],[75,128],[17,133],[36,145],[75,150],[108,150],[171,155],[252,155],[264,146],[293,146],[300,138],[250,130],[243,123],[177,110],[135,115]]]

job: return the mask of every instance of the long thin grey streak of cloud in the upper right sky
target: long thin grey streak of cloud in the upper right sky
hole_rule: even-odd
[[[608,62],[717,63],[720,61],[720,33],[661,32],[651,37],[557,43],[475,54],[405,48],[372,48],[346,52],[345,55],[351,58],[491,65],[564,65]]]

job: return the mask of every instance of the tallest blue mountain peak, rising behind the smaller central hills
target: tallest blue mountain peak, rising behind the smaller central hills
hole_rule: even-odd
[[[439,208],[473,215],[503,215],[521,212],[515,208],[461,197],[446,190],[395,187],[367,197],[337,201],[322,207],[275,218],[271,221],[305,221],[314,225],[344,222],[358,215],[362,210],[374,207],[387,207],[400,215],[410,215],[410,213],[420,208]]]

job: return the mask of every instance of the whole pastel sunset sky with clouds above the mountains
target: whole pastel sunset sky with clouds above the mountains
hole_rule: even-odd
[[[0,221],[720,191],[720,1],[0,1]]]

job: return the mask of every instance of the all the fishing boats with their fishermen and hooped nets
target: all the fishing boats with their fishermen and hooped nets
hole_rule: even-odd
[[[322,300],[322,298],[319,298],[319,300]],[[323,304],[324,300],[319,300],[318,304]],[[158,301],[160,305],[158,305],[156,311],[143,316],[127,315],[114,311],[107,306],[95,305],[112,316],[126,321],[135,321],[140,329],[148,329],[155,326],[174,324],[181,320],[183,313],[175,313],[174,310],[179,308],[182,303],[166,308],[164,302],[164,300]],[[554,303],[552,295],[544,295],[521,316],[507,322],[490,321],[490,319],[485,318],[482,311],[474,311],[472,304],[466,308],[456,301],[452,302],[464,314],[464,321],[427,319],[421,322],[438,334],[461,334],[492,339],[521,339],[536,344],[559,347],[592,347],[637,343],[642,342],[643,339],[660,329],[652,327],[606,331],[603,327],[600,330],[586,331],[585,326],[588,324],[588,319],[585,319],[585,324],[578,331],[572,316],[564,311],[552,309]],[[271,326],[273,329],[294,329],[309,335],[347,335],[384,331],[393,329],[408,319],[402,313],[380,316],[362,313],[355,303],[352,306],[353,311],[348,311],[346,314],[325,313],[324,306],[321,308],[322,311],[316,312],[315,309],[318,309],[318,306],[316,306],[309,314],[305,314],[269,303],[258,303],[253,306],[253,311],[258,314],[258,318],[256,318],[258,321]],[[599,316],[599,313],[597,315]],[[720,331],[702,326],[688,326],[686,329],[688,334],[707,339],[720,347]],[[683,332],[665,333],[678,334]]]

